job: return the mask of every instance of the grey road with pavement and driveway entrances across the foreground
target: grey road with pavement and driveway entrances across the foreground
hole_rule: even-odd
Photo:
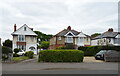
[[[82,63],[38,63],[37,59],[2,64],[3,74],[118,74],[117,62],[85,57]]]

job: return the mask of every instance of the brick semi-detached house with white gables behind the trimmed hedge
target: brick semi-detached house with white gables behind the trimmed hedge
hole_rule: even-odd
[[[78,48],[79,46],[90,46],[91,39],[90,36],[83,32],[78,32],[71,29],[71,26],[68,26],[67,29],[60,31],[50,39],[49,49],[64,47],[67,44],[73,44],[74,48]]]

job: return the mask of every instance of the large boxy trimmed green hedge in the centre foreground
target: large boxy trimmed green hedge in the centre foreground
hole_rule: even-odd
[[[42,50],[38,61],[43,62],[83,62],[84,52],[79,50]]]

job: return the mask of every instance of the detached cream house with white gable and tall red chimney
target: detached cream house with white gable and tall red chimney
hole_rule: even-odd
[[[13,36],[13,50],[15,48],[20,48],[24,51],[33,51],[37,53],[37,34],[33,32],[33,28],[29,28],[24,24],[19,29],[14,25]]]

